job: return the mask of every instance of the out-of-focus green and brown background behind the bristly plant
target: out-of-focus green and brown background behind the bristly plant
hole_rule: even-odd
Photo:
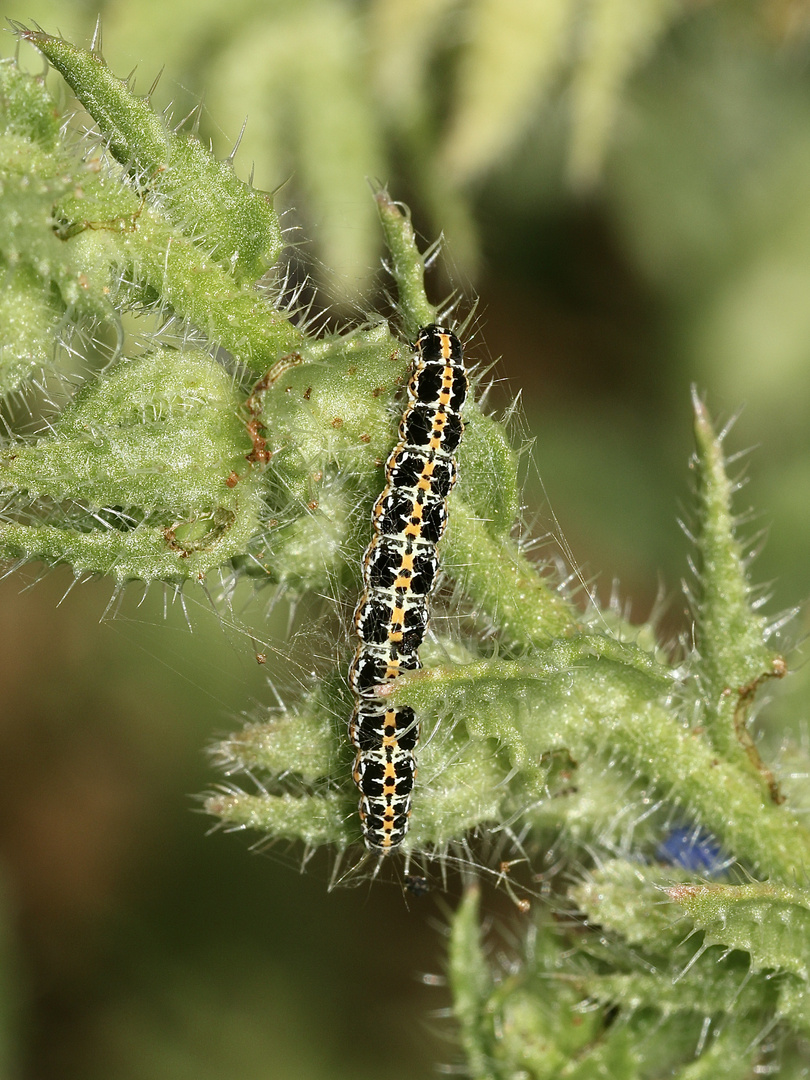
[[[756,447],[739,509],[768,530],[768,610],[804,600],[807,0],[2,8],[84,44],[99,9],[112,70],[137,66],[146,93],[165,65],[154,102],[176,120],[204,95],[219,156],[247,116],[237,167],[282,186],[291,242],[341,318],[379,298],[366,177],[427,240],[444,231],[433,295],[478,298],[470,352],[499,360],[501,405],[522,391],[527,521],[558,522],[604,600],[618,579],[640,620],[661,586],[665,633],[688,629],[691,382],[720,420],[743,406],[728,447]],[[449,1025],[428,1017],[445,993],[418,977],[441,970],[441,896],[327,895],[326,856],[301,875],[300,852],[248,853],[193,812],[218,779],[204,746],[270,701],[249,634],[202,594],[189,632],[135,586],[99,622],[109,583],[59,603],[70,573],[36,576],[0,583],[3,1075],[404,1080],[451,1061]],[[269,633],[258,603],[241,619]],[[774,715],[800,724],[800,648],[794,666]]]

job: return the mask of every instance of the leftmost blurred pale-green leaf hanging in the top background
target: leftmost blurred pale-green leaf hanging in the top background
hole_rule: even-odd
[[[247,114],[257,175],[289,184],[296,211],[315,225],[329,295],[355,301],[379,253],[365,178],[387,168],[362,26],[351,4],[301,0],[253,5],[210,39],[220,50],[212,110],[231,130]]]

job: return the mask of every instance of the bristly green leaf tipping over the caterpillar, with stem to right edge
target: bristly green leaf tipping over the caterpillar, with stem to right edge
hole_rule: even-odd
[[[580,635],[530,660],[415,672],[391,696],[420,715],[453,710],[473,738],[498,740],[529,782],[536,762],[552,752],[567,751],[575,760],[599,755],[688,807],[727,851],[792,880],[810,865],[810,834],[747,770],[719,760],[707,740],[680,723],[664,703],[665,687],[640,650]]]

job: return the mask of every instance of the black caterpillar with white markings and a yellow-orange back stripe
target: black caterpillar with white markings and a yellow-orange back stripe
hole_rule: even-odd
[[[372,514],[374,536],[363,556],[363,594],[354,612],[360,644],[349,671],[356,696],[349,738],[356,751],[352,775],[363,835],[369,850],[383,854],[408,831],[419,724],[413,708],[387,706],[375,691],[420,666],[467,392],[458,338],[443,326],[424,326],[414,350],[400,438]]]

